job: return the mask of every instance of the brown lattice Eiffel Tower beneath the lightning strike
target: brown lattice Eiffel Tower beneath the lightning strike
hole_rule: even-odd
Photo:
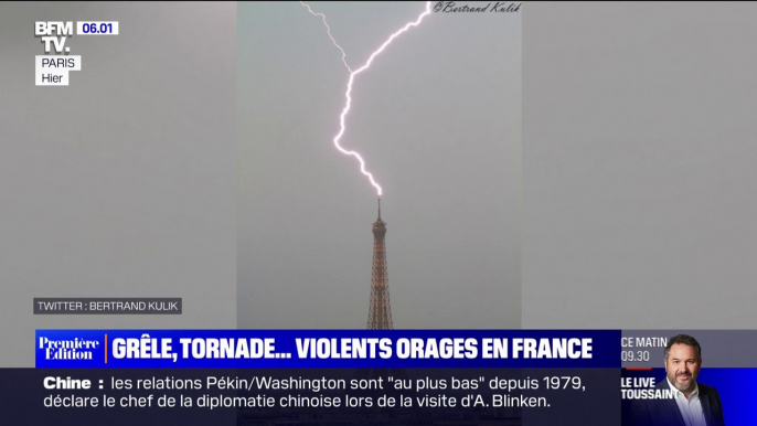
[[[371,306],[367,313],[369,330],[392,330],[392,305],[390,284],[386,276],[386,222],[381,220],[381,199],[378,219],[373,222],[373,268],[371,273]],[[355,379],[378,379],[392,376],[407,379],[404,369],[360,369]]]

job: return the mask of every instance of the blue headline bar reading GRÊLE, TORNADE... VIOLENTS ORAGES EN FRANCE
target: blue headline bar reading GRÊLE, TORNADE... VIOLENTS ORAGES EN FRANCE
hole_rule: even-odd
[[[36,368],[620,368],[620,330],[36,330]],[[332,355],[326,359],[299,358],[298,339],[335,339],[340,351],[344,339],[388,339],[391,356],[346,359]],[[587,359],[523,359],[512,358],[513,339],[591,339]],[[124,358],[125,348],[143,344],[146,353],[175,353],[173,358]],[[274,339],[274,351],[285,358],[215,359],[193,358],[192,344],[183,358],[180,339],[202,339],[199,347],[207,349],[212,339]],[[211,340],[206,340],[211,339]],[[403,339],[423,339],[440,343],[441,339],[475,339],[476,356],[462,359],[413,359],[398,356]],[[508,339],[508,358],[484,359],[484,339]],[[107,340],[107,343],[106,343]],[[137,343],[139,341],[139,343]],[[170,351],[161,351],[163,342]],[[255,341],[258,342],[258,341]],[[322,343],[323,345],[329,342]],[[402,342],[405,343],[405,342]],[[469,342],[470,344],[471,342]],[[212,343],[210,343],[212,344]],[[408,347],[403,344],[403,347]],[[72,349],[73,348],[73,349]],[[106,351],[107,348],[107,351]],[[141,348],[141,347],[140,347]],[[424,347],[425,348],[425,347]],[[380,347],[376,347],[378,350]],[[463,347],[465,349],[465,347]],[[465,351],[463,353],[471,353]],[[120,355],[120,358],[119,358]],[[140,355],[141,356],[141,355]],[[74,359],[78,358],[78,359]]]

